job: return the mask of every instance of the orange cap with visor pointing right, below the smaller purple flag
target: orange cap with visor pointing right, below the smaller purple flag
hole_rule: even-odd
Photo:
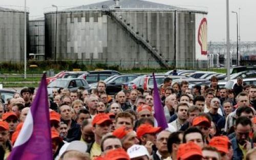
[[[142,124],[137,128],[137,136],[141,138],[142,135],[147,133],[158,133],[161,131],[161,127],[153,127],[151,124]]]

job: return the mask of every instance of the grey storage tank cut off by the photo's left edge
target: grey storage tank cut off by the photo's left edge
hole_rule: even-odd
[[[26,15],[28,41],[29,13]],[[24,60],[24,18],[23,7],[0,7],[0,61]]]

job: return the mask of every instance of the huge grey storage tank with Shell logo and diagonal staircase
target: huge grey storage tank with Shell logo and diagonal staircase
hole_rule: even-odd
[[[45,12],[46,58],[122,67],[206,66],[206,14],[140,0]]]

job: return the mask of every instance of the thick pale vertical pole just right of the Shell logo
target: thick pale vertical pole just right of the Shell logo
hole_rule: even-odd
[[[230,80],[230,48],[229,48],[229,0],[226,0],[227,12],[227,79]]]

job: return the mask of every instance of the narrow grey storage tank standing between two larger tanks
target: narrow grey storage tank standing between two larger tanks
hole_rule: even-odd
[[[30,55],[35,60],[45,59],[45,17],[30,17],[29,19]]]

